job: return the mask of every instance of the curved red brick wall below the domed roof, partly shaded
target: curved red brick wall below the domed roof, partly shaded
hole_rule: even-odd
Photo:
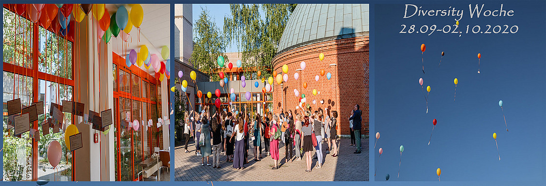
[[[320,61],[319,53],[324,53],[323,61]],[[306,68],[300,69],[300,63],[304,61]],[[328,107],[330,110],[338,112],[338,135],[349,135],[349,122],[347,117],[351,113],[355,104],[360,105],[363,112],[362,134],[369,134],[369,37],[355,37],[347,39],[337,39],[323,41],[306,46],[301,46],[293,50],[277,55],[273,59],[274,70],[282,73],[282,65],[288,65],[288,82],[277,85],[275,82],[274,91],[274,113],[280,112],[283,105],[284,110],[295,110],[298,103],[298,97],[294,95],[294,89],[298,89],[300,96],[305,94],[307,104],[310,104],[312,110],[321,107],[323,110]],[[336,64],[336,65],[330,65]],[[325,75],[320,76],[321,69],[325,70]],[[294,73],[299,74],[299,79],[294,79]],[[331,73],[332,77],[327,80],[326,74]],[[319,81],[315,81],[315,76],[319,75]],[[307,82],[307,88],[303,88],[303,83]],[[313,95],[312,91],[316,89],[320,94]],[[316,105],[312,101],[316,100]],[[321,100],[324,103],[321,104]],[[301,109],[300,109],[301,110]]]

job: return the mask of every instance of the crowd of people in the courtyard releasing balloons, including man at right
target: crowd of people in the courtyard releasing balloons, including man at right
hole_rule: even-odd
[[[325,154],[337,157],[337,111],[318,109],[292,110],[280,113],[267,113],[264,116],[241,112],[233,115],[232,112],[219,112],[210,115],[209,107],[205,106],[202,112],[186,112],[184,125],[185,152],[188,151],[188,142],[195,140],[195,154],[201,156],[201,166],[221,168],[221,154],[224,152],[225,161],[233,163],[236,170],[245,169],[249,163],[248,149],[253,148],[252,158],[261,161],[270,156],[273,159],[271,169],[280,168],[279,143],[284,145],[284,162],[299,161],[305,158],[306,172],[311,172],[313,151],[317,159],[315,169],[321,169]],[[295,116],[294,116],[295,114]],[[355,146],[355,154],[360,153],[360,106],[355,105],[351,116],[347,117],[351,129],[351,145]],[[211,140],[212,139],[212,140]],[[323,142],[328,143],[328,149],[323,153]],[[212,155],[212,164],[210,156]],[[206,158],[206,164],[205,164]]]

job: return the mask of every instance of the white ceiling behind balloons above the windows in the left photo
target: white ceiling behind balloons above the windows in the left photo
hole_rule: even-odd
[[[108,12],[111,15],[115,13],[117,11],[117,8],[121,5],[125,6],[125,8],[127,8],[127,11],[129,11],[130,13],[132,4],[106,4],[106,9],[108,9]],[[129,33],[130,39],[127,40],[129,47],[126,51],[134,49],[138,52],[140,46],[146,45],[148,47],[148,50],[150,51],[150,55],[155,53],[156,55],[158,55],[159,59],[163,61],[163,58],[161,57],[162,47],[167,46],[170,48],[170,4],[140,5],[144,10],[144,18],[142,24],[140,25],[140,41],[139,29],[133,27],[133,29]],[[124,56],[127,52],[121,51],[121,32],[117,38],[111,38],[110,44],[112,44],[112,50],[114,50],[114,52]],[[144,66],[141,67],[141,69],[146,71]],[[150,68],[147,71],[153,75],[153,68]]]

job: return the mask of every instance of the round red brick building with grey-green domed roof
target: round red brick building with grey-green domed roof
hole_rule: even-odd
[[[319,60],[319,54],[324,59]],[[300,63],[305,62],[305,70]],[[329,108],[338,112],[338,135],[349,135],[347,117],[355,104],[363,112],[361,133],[369,135],[369,6],[365,4],[300,4],[290,16],[273,59],[282,74],[288,65],[288,81],[277,85],[273,112],[296,109],[299,95],[305,94],[311,109]],[[321,76],[321,70],[325,75]],[[299,79],[294,79],[294,73]],[[327,80],[327,73],[331,79]],[[319,75],[319,81],[315,76]],[[307,88],[304,88],[304,82]],[[316,89],[317,95],[312,91]],[[316,104],[313,104],[313,100]],[[299,109],[301,110],[301,109]]]

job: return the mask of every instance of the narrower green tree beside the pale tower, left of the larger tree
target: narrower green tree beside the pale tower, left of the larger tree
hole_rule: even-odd
[[[201,9],[199,19],[194,25],[194,31],[197,36],[193,39],[194,46],[190,62],[195,68],[210,75],[211,81],[218,81],[218,56],[225,56],[225,43],[222,33],[216,27],[216,23],[209,17],[209,11]]]

